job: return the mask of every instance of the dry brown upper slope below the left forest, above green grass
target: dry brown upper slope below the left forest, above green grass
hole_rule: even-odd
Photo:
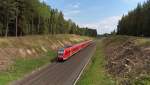
[[[49,50],[56,51],[89,39],[77,35],[48,35],[0,38],[0,71],[5,70],[16,58],[37,58]]]

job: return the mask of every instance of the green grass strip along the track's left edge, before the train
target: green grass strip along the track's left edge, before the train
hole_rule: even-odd
[[[50,63],[52,58],[56,57],[56,53],[48,51],[46,55],[35,59],[16,59],[15,63],[5,72],[0,72],[0,85],[7,85],[11,81],[22,78],[25,74]]]

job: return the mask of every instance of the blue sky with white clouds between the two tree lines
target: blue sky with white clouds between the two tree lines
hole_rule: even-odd
[[[98,34],[110,33],[118,21],[138,3],[146,0],[44,0],[52,8],[64,13],[80,27],[97,29]]]

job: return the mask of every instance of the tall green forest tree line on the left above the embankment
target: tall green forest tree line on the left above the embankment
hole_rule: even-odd
[[[0,36],[78,34],[97,36],[97,31],[81,28],[65,20],[58,9],[39,0],[0,0]]]

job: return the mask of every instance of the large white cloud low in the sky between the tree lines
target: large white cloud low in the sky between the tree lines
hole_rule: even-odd
[[[105,18],[99,22],[82,24],[82,27],[90,27],[97,29],[98,34],[111,33],[117,29],[118,21],[121,19],[121,16],[112,16]]]

